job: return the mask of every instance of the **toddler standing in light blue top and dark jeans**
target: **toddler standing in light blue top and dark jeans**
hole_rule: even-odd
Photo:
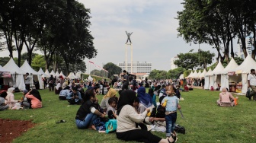
[[[162,100],[162,106],[165,106],[165,122],[166,122],[166,136],[176,136],[174,132],[175,122],[177,119],[177,108],[180,110],[178,97],[174,96],[173,86],[169,86],[167,92],[167,97]]]

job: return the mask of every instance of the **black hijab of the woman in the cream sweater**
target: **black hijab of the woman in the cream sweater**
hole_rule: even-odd
[[[133,102],[135,99],[136,99],[136,92],[130,91],[130,90],[123,91],[117,103],[117,115],[119,115],[123,106],[125,105],[133,106]]]

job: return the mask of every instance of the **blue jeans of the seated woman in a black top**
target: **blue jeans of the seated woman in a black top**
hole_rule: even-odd
[[[83,121],[81,121],[80,119],[75,119],[75,124],[78,129],[86,129],[95,119],[97,119],[97,115],[94,113],[89,113]]]

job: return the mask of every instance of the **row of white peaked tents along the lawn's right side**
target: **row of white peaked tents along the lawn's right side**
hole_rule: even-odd
[[[216,89],[219,84],[221,86],[219,90],[222,90],[223,87],[229,88],[229,83],[242,81],[242,94],[245,94],[248,89],[247,75],[255,67],[256,62],[251,56],[247,56],[241,65],[238,65],[234,59],[231,59],[226,68],[219,62],[213,71],[206,73],[204,89],[210,89],[212,86]],[[229,73],[232,73],[232,75]]]

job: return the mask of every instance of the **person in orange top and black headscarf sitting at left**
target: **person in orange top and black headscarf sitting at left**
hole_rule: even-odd
[[[29,108],[42,108],[42,98],[40,96],[40,93],[36,90],[33,89],[31,91],[29,91],[25,97],[27,99],[30,99],[30,103],[29,102],[22,102],[21,105],[23,106],[27,106]]]

